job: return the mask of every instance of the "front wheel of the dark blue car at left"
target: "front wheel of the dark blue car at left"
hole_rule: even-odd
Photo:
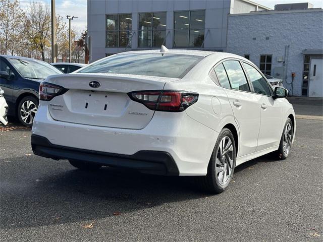
[[[38,104],[38,99],[33,96],[27,96],[20,100],[17,108],[17,117],[23,126],[32,127]]]

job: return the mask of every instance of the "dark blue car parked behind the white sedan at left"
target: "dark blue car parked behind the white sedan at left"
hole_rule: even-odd
[[[46,62],[0,55],[0,87],[5,91],[8,115],[17,116],[22,125],[31,127],[39,102],[39,84],[54,74],[62,72]]]

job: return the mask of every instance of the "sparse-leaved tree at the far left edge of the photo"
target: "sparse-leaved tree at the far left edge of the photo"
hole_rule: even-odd
[[[25,13],[18,0],[0,0],[0,51],[3,54],[17,52],[22,37]]]

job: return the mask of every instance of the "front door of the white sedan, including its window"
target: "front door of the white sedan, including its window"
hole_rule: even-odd
[[[260,130],[257,151],[279,145],[283,122],[281,100],[274,99],[273,89],[263,75],[252,65],[243,63],[244,69],[253,87],[253,92],[259,97]]]

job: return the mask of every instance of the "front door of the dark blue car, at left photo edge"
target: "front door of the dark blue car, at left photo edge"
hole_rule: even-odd
[[[4,58],[0,58],[0,71],[7,72],[9,74],[8,78],[0,77],[0,87],[5,92],[4,97],[8,105],[13,106],[14,72],[9,63]]]

